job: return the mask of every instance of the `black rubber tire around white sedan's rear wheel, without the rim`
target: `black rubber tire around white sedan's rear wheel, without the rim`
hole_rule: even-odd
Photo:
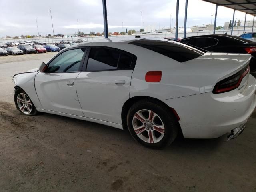
[[[137,136],[137,134],[134,131],[132,122],[134,114],[139,110],[143,109],[155,112],[161,118],[164,124],[164,136],[159,142],[145,142],[139,136]],[[174,114],[172,113],[172,111],[168,107],[164,106],[162,103],[155,100],[141,100],[139,102],[134,103],[129,109],[127,114],[127,126],[132,137],[143,146],[154,149],[162,149],[169,146],[177,137],[179,123]]]

